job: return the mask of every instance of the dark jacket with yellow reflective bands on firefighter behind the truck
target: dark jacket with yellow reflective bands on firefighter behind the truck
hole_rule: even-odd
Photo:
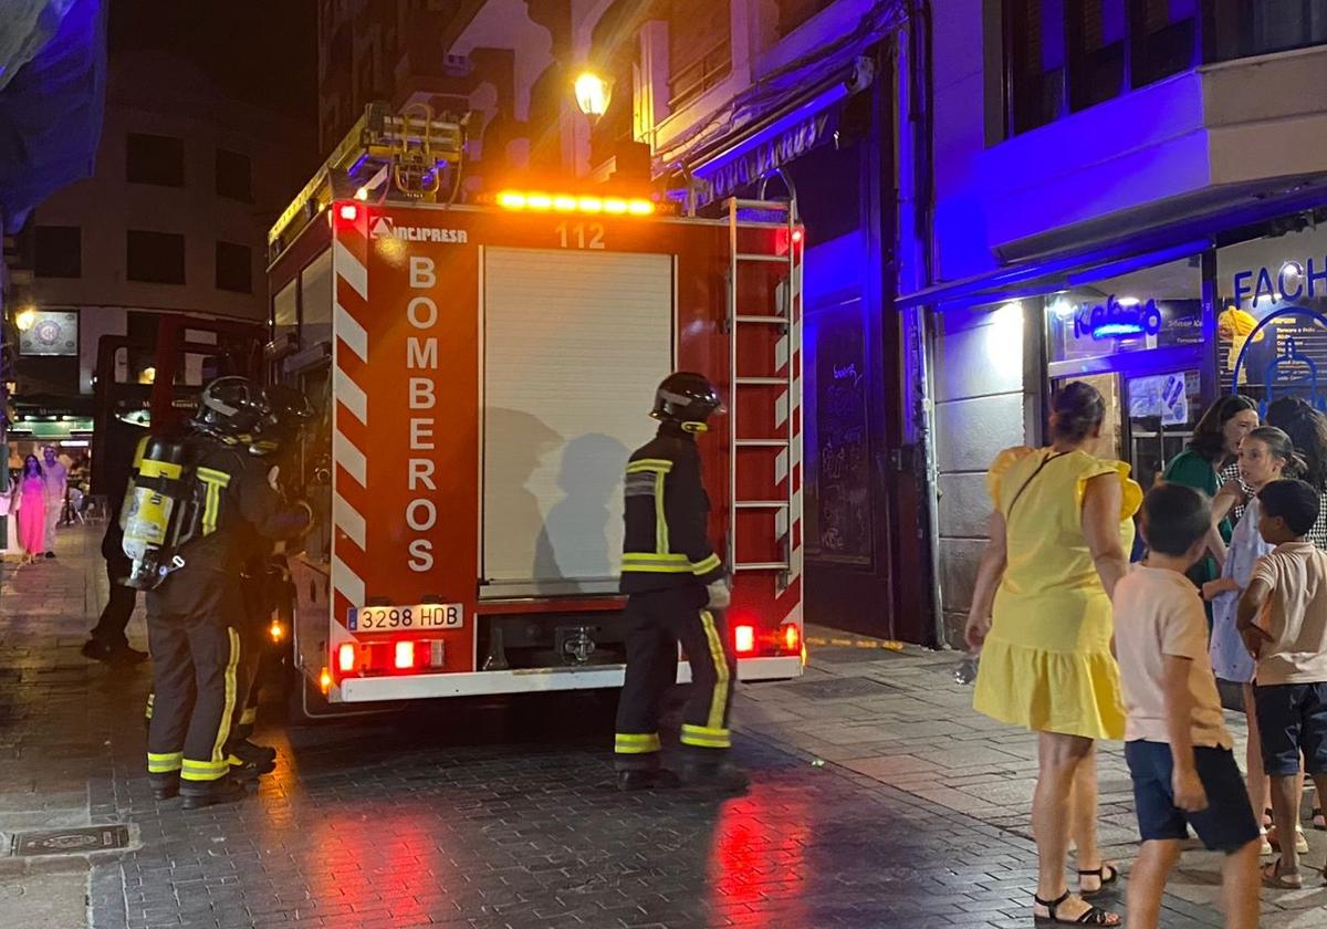
[[[703,587],[725,576],[706,526],[710,498],[690,433],[660,426],[626,463],[622,593]]]

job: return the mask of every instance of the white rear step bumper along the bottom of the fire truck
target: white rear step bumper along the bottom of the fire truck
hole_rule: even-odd
[[[528,694],[547,690],[591,690],[621,687],[624,665],[602,668],[537,668],[515,672],[472,672],[462,674],[409,674],[399,677],[346,678],[332,687],[333,703],[370,703],[434,697],[479,697],[484,694]],[[776,681],[802,676],[802,658],[742,658],[739,681]],[[691,679],[691,666],[677,668],[678,683]]]

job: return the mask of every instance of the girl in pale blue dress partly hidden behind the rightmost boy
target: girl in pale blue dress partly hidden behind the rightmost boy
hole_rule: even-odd
[[[1253,430],[1239,442],[1239,474],[1245,484],[1255,492],[1273,480],[1279,480],[1283,475],[1298,474],[1300,463],[1295,458],[1290,437],[1279,429],[1263,426]],[[1212,503],[1214,515],[1223,516],[1230,502],[1229,490],[1222,488]],[[1209,540],[1210,537],[1209,535]],[[1226,552],[1221,577],[1202,585],[1202,596],[1212,601],[1212,669],[1222,681],[1231,681],[1239,686],[1243,694],[1243,710],[1249,723],[1249,745],[1245,756],[1245,770],[1249,772],[1249,803],[1259,811],[1269,807],[1270,796],[1267,794],[1267,776],[1262,770],[1262,752],[1258,749],[1258,719],[1253,710],[1253,658],[1235,630],[1235,608],[1239,603],[1239,593],[1249,585],[1258,559],[1270,551],[1271,545],[1258,535],[1258,500],[1251,499],[1245,508],[1243,518],[1230,536],[1230,548]],[[1285,833],[1277,831],[1271,839],[1275,840],[1277,835]],[[1290,835],[1295,836],[1295,847],[1300,852],[1308,851],[1303,829],[1296,828]],[[1271,853],[1271,844],[1266,840],[1262,853]]]

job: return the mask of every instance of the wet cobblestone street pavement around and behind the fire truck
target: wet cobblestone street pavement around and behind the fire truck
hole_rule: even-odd
[[[744,687],[746,798],[617,794],[612,695],[583,694],[264,723],[280,771],[242,804],[186,814],[142,776],[146,669],[78,656],[105,592],[93,532],[58,551],[0,573],[5,925],[1031,924],[1031,743],[973,714],[951,656],[829,648],[802,681]],[[1117,750],[1101,782],[1127,861]],[[12,833],[118,823],[125,852],[3,856]],[[1220,925],[1217,865],[1186,861],[1165,926]],[[1327,925],[1324,894],[1278,896],[1265,925]]]

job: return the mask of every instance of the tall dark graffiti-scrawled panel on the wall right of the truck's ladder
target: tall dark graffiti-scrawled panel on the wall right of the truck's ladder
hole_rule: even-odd
[[[817,532],[823,561],[872,564],[867,350],[857,304],[820,324],[816,362]]]

